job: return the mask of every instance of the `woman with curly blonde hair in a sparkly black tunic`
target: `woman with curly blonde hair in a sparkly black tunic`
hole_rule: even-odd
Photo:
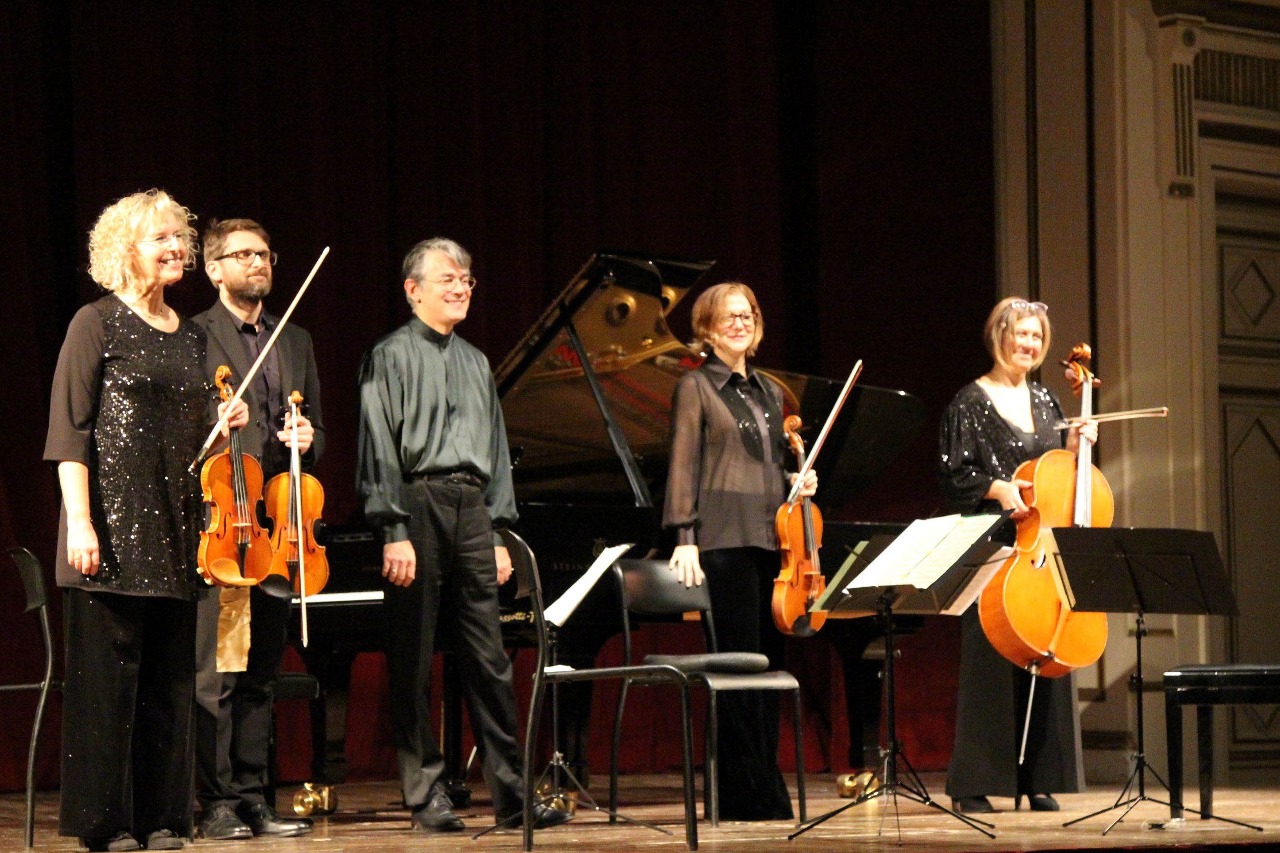
[[[54,373],[45,459],[63,491],[58,586],[67,682],[58,829],[90,850],[172,850],[191,834],[205,333],[165,304],[195,261],[193,217],[127,196],[90,233],[82,307]],[[225,408],[225,403],[223,407]],[[243,403],[229,423],[248,421]]]

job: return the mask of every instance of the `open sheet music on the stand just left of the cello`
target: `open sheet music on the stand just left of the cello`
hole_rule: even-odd
[[[897,613],[960,615],[1011,554],[992,536],[1007,514],[943,515],[913,522],[845,584],[833,610],[873,610],[892,588]]]

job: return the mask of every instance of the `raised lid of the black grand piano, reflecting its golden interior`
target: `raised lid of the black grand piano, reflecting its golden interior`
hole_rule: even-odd
[[[570,340],[572,320],[609,411],[655,500],[667,474],[671,398],[701,363],[667,326],[667,316],[714,261],[599,252],[573,276],[495,371],[522,501],[575,496],[631,503],[622,462]],[[874,366],[868,366],[872,373]],[[817,435],[842,380],[762,371],[783,387],[805,439]],[[924,407],[904,391],[854,389],[818,464],[823,504],[867,487],[911,441]]]

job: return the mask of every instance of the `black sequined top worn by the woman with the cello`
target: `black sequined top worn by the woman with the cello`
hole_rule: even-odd
[[[938,480],[947,504],[956,513],[1000,512],[986,500],[992,481],[1011,481],[1018,466],[1066,442],[1066,432],[1053,426],[1062,407],[1051,390],[1030,382],[1036,432],[1028,436],[996,411],[987,393],[969,382],[942,413],[938,432]]]

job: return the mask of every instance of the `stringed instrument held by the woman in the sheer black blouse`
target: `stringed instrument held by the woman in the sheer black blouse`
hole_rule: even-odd
[[[804,469],[804,439],[800,418],[788,416],[782,422],[791,451]],[[822,513],[808,497],[787,501],[774,518],[782,568],[773,579],[773,624],[788,637],[812,637],[827,622],[826,613],[809,613],[809,607],[827,588],[818,549],[822,547]]]

